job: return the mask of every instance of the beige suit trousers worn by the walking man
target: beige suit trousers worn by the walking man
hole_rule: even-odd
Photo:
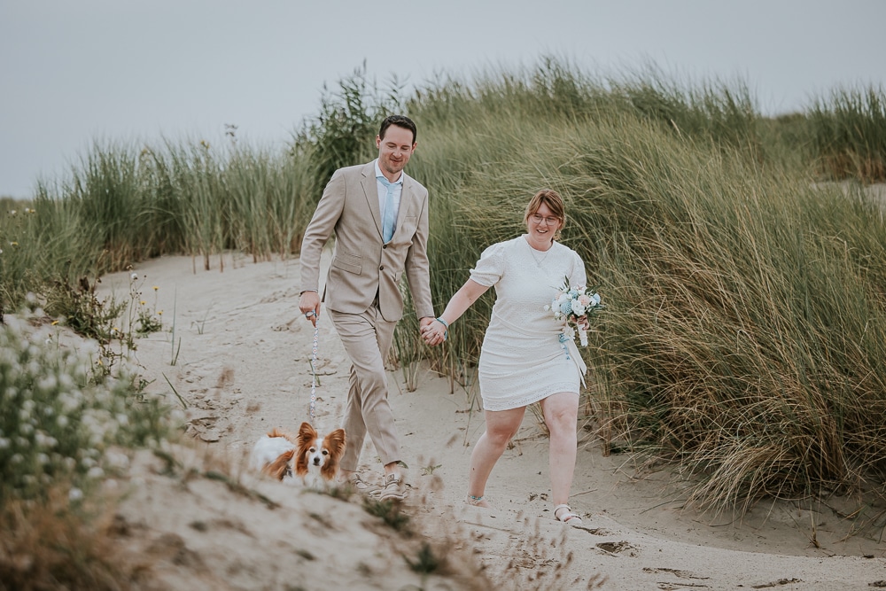
[[[397,462],[400,460],[400,443],[388,403],[385,373],[385,358],[391,349],[397,322],[386,321],[377,302],[360,314],[328,312],[352,363],[341,425],[347,436],[341,468],[357,470],[367,432],[382,464]]]

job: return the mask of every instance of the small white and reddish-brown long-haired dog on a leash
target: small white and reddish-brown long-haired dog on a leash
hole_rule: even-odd
[[[320,437],[311,424],[302,423],[293,437],[275,428],[255,442],[250,465],[286,484],[319,490],[335,484],[345,445],[344,429]]]

